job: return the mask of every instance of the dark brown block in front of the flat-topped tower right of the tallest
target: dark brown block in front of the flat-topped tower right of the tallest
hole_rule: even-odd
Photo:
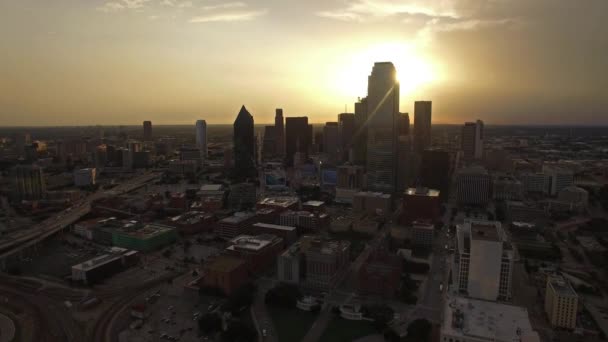
[[[418,180],[423,187],[439,190],[442,199],[450,188],[450,153],[440,149],[422,151]]]

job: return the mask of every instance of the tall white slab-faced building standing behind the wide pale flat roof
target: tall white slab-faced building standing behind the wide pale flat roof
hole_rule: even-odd
[[[456,286],[459,293],[490,301],[509,301],[513,248],[500,222],[465,220],[456,230]]]

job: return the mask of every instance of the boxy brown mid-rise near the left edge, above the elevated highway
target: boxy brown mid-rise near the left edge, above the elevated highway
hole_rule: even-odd
[[[13,168],[12,197],[21,200],[39,200],[46,191],[42,168],[37,165],[17,165]]]

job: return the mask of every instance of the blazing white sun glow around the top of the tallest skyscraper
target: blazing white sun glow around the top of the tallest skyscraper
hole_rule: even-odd
[[[412,94],[439,79],[432,63],[418,54],[413,46],[403,42],[371,45],[349,54],[342,62],[335,67],[335,86],[344,96],[367,94],[367,77],[375,62],[395,65],[402,95]]]

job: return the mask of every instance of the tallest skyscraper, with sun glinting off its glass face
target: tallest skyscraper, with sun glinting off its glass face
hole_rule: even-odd
[[[393,63],[375,63],[367,84],[367,187],[393,193],[397,175],[399,81]]]

